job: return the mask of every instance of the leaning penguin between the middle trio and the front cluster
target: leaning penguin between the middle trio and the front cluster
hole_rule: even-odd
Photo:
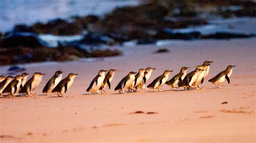
[[[158,76],[156,79],[153,80],[153,82],[147,85],[147,87],[152,88],[154,92],[156,92],[156,89],[158,89],[158,91],[162,91],[160,90],[160,88],[166,83],[171,72],[172,70],[165,70],[163,75]]]

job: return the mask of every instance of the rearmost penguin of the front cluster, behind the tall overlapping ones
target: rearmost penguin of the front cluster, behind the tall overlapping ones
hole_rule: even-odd
[[[172,87],[172,90],[174,90],[174,88],[179,88],[178,83],[184,79],[184,77],[187,74],[188,68],[190,68],[190,67],[182,67],[180,69],[180,72],[177,75],[173,76],[170,81],[165,82],[165,84]]]

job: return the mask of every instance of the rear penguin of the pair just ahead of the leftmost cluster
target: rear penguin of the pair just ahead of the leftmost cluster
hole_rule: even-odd
[[[55,74],[50,78],[50,80],[45,84],[43,93],[46,93],[46,95],[49,95],[49,92],[52,91],[53,88],[56,87],[56,85],[62,80],[62,74],[63,71],[56,71]]]

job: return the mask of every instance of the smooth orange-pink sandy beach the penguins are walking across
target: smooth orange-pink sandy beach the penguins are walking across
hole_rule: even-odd
[[[121,47],[123,56],[93,62],[48,62],[25,65],[41,71],[36,97],[0,98],[0,142],[129,141],[255,142],[255,38],[177,41],[170,53],[154,54],[152,45]],[[113,88],[129,71],[154,67],[150,78],[165,69],[177,74],[213,60],[203,89],[117,94]],[[208,79],[236,65],[231,83],[217,89]],[[6,73],[2,67],[0,73]],[[105,95],[83,95],[99,69],[119,69]],[[190,69],[188,72],[190,72]],[[56,70],[78,73],[66,98],[44,96],[42,89]],[[170,77],[171,78],[171,77]],[[221,104],[227,102],[227,104]],[[143,111],[144,113],[132,113]],[[156,112],[147,114],[147,112]]]

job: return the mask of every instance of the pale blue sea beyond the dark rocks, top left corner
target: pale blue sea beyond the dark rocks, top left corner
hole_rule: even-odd
[[[90,14],[104,16],[114,8],[138,4],[140,0],[0,0],[0,32],[16,24]]]

